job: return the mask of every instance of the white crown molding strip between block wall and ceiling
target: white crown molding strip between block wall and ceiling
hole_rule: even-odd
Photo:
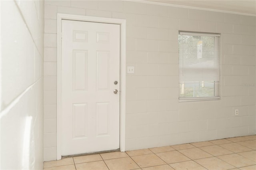
[[[212,12],[223,12],[228,14],[238,14],[238,15],[246,15],[246,16],[256,16],[256,14],[248,14],[248,13],[242,13],[242,12],[233,12],[233,11],[226,11],[226,10],[216,10],[211,8],[200,8],[200,7],[194,7],[194,6],[184,6],[184,5],[176,5],[176,4],[166,4],[161,2],[152,2],[152,1],[146,1],[146,0],[124,0],[124,1],[130,1],[130,2],[139,2],[144,4],[153,4],[153,5],[162,5],[162,6],[172,6],[177,8],[188,8],[188,9],[194,9],[194,10],[205,10],[205,11],[212,11]]]

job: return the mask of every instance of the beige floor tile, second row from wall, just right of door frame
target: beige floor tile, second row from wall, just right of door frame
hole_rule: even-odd
[[[163,153],[166,153],[166,152],[163,152]],[[163,160],[158,158],[158,156],[156,156],[155,154],[132,156],[131,158],[140,166],[140,168],[166,164]]]

